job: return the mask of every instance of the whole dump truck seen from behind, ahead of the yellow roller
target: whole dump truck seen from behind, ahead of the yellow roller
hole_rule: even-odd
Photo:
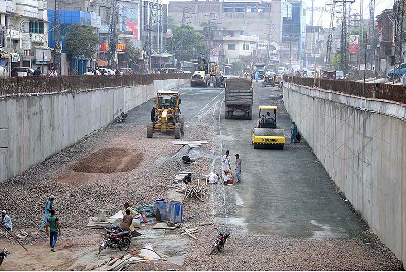
[[[227,78],[225,83],[225,118],[252,119],[254,89],[251,78]]]

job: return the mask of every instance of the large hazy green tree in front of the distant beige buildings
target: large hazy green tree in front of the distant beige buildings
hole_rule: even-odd
[[[198,33],[190,25],[183,27],[183,46],[182,56],[179,56],[182,44],[182,28],[176,27],[172,31],[172,38],[167,43],[167,51],[175,54],[182,61],[190,60],[193,55],[196,57],[200,54],[205,54],[207,51],[206,39],[203,34]]]

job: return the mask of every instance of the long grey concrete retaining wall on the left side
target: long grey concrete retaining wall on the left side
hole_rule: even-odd
[[[22,173],[95,130],[190,79],[0,100],[0,181]]]

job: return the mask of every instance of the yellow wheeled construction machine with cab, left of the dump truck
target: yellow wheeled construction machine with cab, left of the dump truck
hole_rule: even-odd
[[[151,111],[151,122],[147,125],[147,138],[152,138],[156,131],[173,131],[176,139],[180,139],[185,118],[181,114],[179,92],[158,92],[155,107]]]

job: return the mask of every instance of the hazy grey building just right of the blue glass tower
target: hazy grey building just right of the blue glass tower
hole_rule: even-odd
[[[306,48],[304,53],[306,53],[306,66],[312,64],[316,58],[325,53],[325,40],[326,31],[322,26],[311,26],[306,25]],[[318,65],[324,65],[320,63]]]

